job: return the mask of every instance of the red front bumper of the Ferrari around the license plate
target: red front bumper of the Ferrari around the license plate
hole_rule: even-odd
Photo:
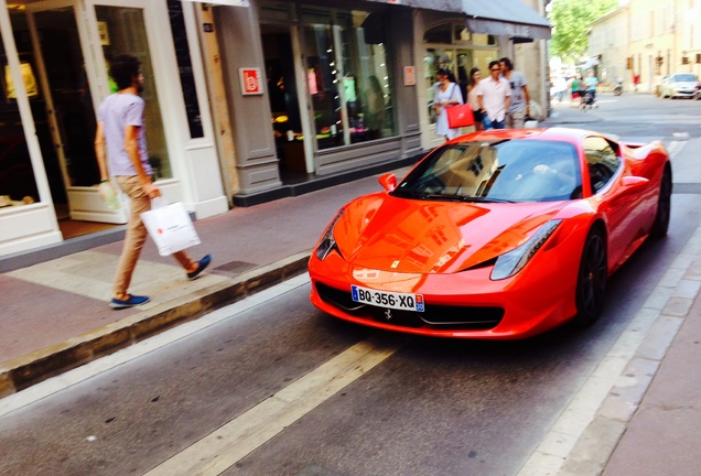
[[[550,256],[548,256],[550,255]],[[353,267],[337,253],[310,260],[311,301],[320,310],[358,324],[410,334],[515,339],[542,333],[575,312],[579,258],[542,253],[506,280],[492,281],[492,267],[451,274],[411,274]],[[424,312],[354,302],[353,284],[378,291],[419,293]]]

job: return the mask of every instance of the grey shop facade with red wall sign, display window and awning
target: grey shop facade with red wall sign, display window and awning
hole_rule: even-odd
[[[235,203],[436,145],[431,102],[439,67],[453,71],[464,93],[472,67],[486,73],[489,61],[509,56],[530,79],[533,99],[547,101],[550,25],[520,0],[248,4],[203,9],[222,63],[213,83],[226,91],[222,122],[231,131]],[[258,86],[247,90],[246,82]]]

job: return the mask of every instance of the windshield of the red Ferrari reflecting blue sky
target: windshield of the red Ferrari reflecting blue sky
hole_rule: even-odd
[[[533,139],[461,142],[427,156],[392,192],[454,202],[552,202],[580,198],[574,145]]]

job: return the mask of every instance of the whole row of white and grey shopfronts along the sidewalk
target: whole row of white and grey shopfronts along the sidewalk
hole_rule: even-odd
[[[530,0],[529,0],[530,1]],[[547,102],[542,6],[462,0],[0,0],[0,256],[127,220],[99,199],[109,61],[138,56],[166,198],[197,218],[440,143],[435,69],[509,56]]]

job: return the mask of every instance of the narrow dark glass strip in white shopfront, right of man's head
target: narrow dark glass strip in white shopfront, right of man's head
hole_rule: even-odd
[[[175,45],[175,56],[177,57],[177,68],[180,71],[180,84],[183,90],[185,112],[187,113],[187,126],[190,137],[193,139],[204,137],[202,130],[202,116],[199,113],[199,102],[197,101],[197,88],[195,86],[195,75],[192,69],[192,58],[190,57],[190,44],[187,43],[187,31],[183,18],[183,4],[180,0],[168,0],[168,10],[171,19],[171,32],[173,44]]]

